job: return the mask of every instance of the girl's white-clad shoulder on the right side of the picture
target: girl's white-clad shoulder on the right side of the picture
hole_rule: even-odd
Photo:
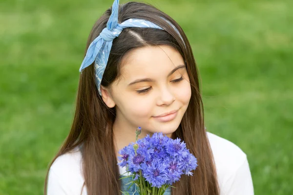
[[[253,195],[252,178],[246,153],[227,139],[210,132],[207,132],[207,135],[214,157],[221,195],[232,195],[233,193]]]

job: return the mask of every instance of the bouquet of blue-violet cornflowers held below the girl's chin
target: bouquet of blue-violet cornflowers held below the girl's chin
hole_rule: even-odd
[[[139,139],[141,128],[136,130],[136,143],[130,143],[119,151],[121,167],[132,177],[131,185],[138,187],[140,195],[163,195],[166,189],[182,174],[192,175],[197,167],[197,159],[186,148],[179,138],[171,139],[163,133],[149,134]],[[122,192],[124,195],[128,193]]]

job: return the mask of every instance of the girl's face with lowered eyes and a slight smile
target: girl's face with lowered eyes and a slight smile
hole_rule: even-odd
[[[111,91],[102,89],[106,105],[116,106],[113,129],[133,134],[141,127],[145,135],[163,132],[170,137],[180,125],[191,96],[181,54],[168,45],[134,49],[124,56],[121,71]]]

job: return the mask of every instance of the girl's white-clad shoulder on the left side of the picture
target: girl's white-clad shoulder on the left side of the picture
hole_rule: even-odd
[[[84,185],[82,168],[82,153],[78,149],[57,157],[49,169],[47,194],[81,195]],[[84,188],[82,195],[85,194]]]

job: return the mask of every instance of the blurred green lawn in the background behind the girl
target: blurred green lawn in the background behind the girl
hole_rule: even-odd
[[[112,2],[0,1],[0,195],[42,194],[72,122],[87,36]],[[187,33],[206,126],[247,153],[255,194],[291,195],[293,1],[146,2]]]

